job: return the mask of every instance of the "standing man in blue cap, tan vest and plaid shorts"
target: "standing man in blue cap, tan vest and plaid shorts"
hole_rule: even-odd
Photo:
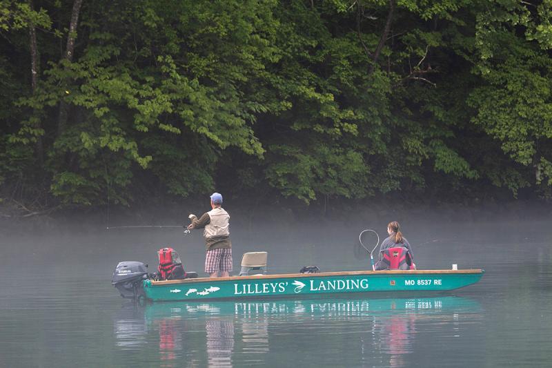
[[[204,229],[205,246],[207,249],[205,257],[205,272],[209,277],[217,278],[220,272],[221,277],[228,277],[232,271],[232,243],[230,243],[230,215],[224,211],[222,206],[222,195],[213,193],[210,196],[211,211],[208,211],[197,218],[190,214],[188,218],[192,221],[188,230]]]

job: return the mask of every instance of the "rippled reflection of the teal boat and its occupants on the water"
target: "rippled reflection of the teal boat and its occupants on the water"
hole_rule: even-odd
[[[354,357],[351,365],[404,367],[420,323],[423,329],[431,325],[440,333],[456,336],[462,333],[455,323],[458,316],[479,318],[480,305],[455,296],[325,298],[159,302],[141,311],[146,326],[132,331],[148,335],[137,340],[159,341],[159,358],[166,367],[181,366],[183,361],[190,367],[262,365],[273,359],[271,350],[288,351],[278,354],[278,360],[282,359],[278,365],[293,365],[302,354],[293,351],[301,350],[302,343],[304,349],[315,345],[322,351],[343,344],[350,354],[342,358],[344,364]],[[127,335],[121,333],[117,338],[125,342]]]

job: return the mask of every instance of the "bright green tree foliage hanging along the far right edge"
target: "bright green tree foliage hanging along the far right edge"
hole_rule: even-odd
[[[476,28],[475,86],[468,104],[477,109],[472,121],[534,177],[502,180],[514,192],[522,185],[552,184],[552,96],[549,34],[551,3],[493,2],[482,10]],[[504,172],[508,175],[508,171]]]

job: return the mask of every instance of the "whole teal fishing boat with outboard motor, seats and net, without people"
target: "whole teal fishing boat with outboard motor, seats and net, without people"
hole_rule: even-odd
[[[367,229],[363,233],[366,231],[373,230]],[[379,236],[377,238],[379,243]],[[362,244],[360,237],[359,242]],[[168,250],[176,254],[172,249],[162,249],[162,251]],[[159,275],[148,273],[147,265],[141,262],[119,262],[113,273],[112,284],[123,298],[145,299],[153,302],[305,298],[305,296],[317,298],[332,294],[343,296],[366,293],[371,296],[382,295],[382,293],[404,296],[409,293],[442,293],[460,289],[475,284],[484,273],[481,269],[458,270],[456,264],[453,264],[453,269],[397,269],[401,266],[398,262],[401,259],[398,257],[400,250],[393,251],[397,264],[392,263],[385,271],[374,271],[377,268],[373,264],[373,251],[366,249],[371,256],[372,271],[319,272],[318,267],[304,267],[299,273],[267,275],[267,252],[260,251],[244,253],[239,275],[197,278],[197,273],[184,273],[182,269],[182,275],[177,280],[159,280]],[[177,255],[176,259],[179,261]],[[177,262],[177,265],[181,268],[180,262]],[[414,268],[414,264],[411,264],[411,267]],[[250,271],[262,273],[250,275]]]

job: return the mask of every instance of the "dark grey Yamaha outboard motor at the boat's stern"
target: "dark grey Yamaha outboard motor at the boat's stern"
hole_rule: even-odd
[[[144,280],[154,276],[148,273],[147,267],[142,262],[119,262],[113,271],[111,284],[119,290],[123,298],[137,300],[144,296]]]

